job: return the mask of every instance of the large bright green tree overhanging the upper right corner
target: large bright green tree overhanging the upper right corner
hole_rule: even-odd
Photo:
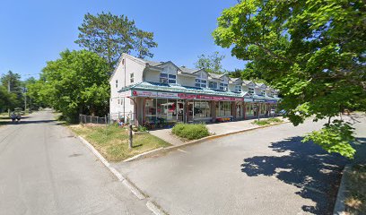
[[[250,73],[280,90],[293,125],[328,118],[310,133],[329,152],[353,158],[352,127],[331,121],[345,109],[366,109],[366,4],[362,0],[246,0],[226,9],[215,42],[249,61]],[[332,147],[327,143],[332,142]]]

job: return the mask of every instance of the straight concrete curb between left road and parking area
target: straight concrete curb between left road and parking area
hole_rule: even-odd
[[[144,194],[143,192],[141,192],[138,187],[136,185],[134,185],[132,182],[130,182],[128,180],[128,178],[126,178],[125,176],[122,176],[122,174],[120,174],[118,172],[118,170],[116,168],[112,168],[109,164],[109,162],[107,161],[107,159],[104,159],[103,156],[100,154],[100,152],[98,152],[98,150],[96,150],[92,144],[88,141],[86,141],[85,139],[83,139],[83,137],[81,136],[77,136],[77,138],[80,140],[80,142],[83,142],[84,145],[86,145],[86,147],[89,148],[89,150],[92,150],[92,153],[98,158],[100,159],[101,163],[109,169],[109,171],[111,173],[113,173],[114,176],[116,176],[118,178],[118,181],[122,182],[123,185],[126,186],[126,188],[131,192],[134,193],[135,196],[139,199],[139,200],[144,200],[147,199],[148,196],[146,194]],[[158,149],[159,150],[159,149]],[[148,151],[149,152],[149,151]],[[146,207],[150,210],[153,211],[153,213],[155,215],[167,215],[166,212],[161,210],[161,207],[156,204],[155,202],[151,202],[149,200],[147,200],[146,202]]]

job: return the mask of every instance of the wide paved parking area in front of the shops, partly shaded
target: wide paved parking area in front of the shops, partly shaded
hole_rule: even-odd
[[[347,160],[301,142],[321,125],[276,125],[115,166],[171,215],[330,214]]]

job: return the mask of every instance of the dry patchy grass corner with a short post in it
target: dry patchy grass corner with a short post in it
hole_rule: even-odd
[[[82,136],[109,161],[121,161],[148,150],[170,146],[170,143],[150,133],[134,135],[133,149],[128,149],[128,133],[116,125],[69,125],[74,133]]]

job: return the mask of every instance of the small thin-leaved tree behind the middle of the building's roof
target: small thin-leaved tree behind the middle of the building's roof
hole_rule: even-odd
[[[203,54],[198,56],[195,67],[197,69],[205,69],[208,73],[222,73],[222,59],[224,57],[219,52],[213,52],[211,56],[205,56]]]

